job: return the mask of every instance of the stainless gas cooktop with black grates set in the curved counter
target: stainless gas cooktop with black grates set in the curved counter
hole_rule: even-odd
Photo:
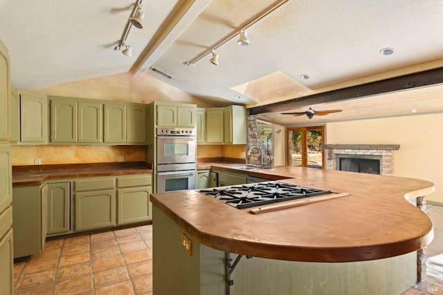
[[[321,189],[301,187],[296,184],[271,181],[234,185],[232,187],[201,189],[199,193],[216,198],[237,209],[246,209],[264,204],[320,196],[332,193],[332,191],[323,191]]]

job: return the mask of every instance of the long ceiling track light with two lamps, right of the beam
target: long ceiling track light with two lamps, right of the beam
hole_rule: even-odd
[[[214,44],[212,46],[212,48],[213,48],[212,50],[207,50],[204,53],[201,53],[200,55],[195,57],[195,59],[192,59],[192,60],[188,61],[186,63],[186,66],[195,66],[195,63],[197,63],[197,61],[199,61],[200,59],[206,57],[206,55],[208,55],[210,53],[213,54],[213,57],[210,59],[210,62],[212,62],[213,64],[218,65],[218,58],[219,58],[219,56],[216,53],[214,53],[214,50],[216,50],[217,48],[219,48],[220,46],[222,46],[226,42],[230,41],[230,39],[233,39],[237,35],[240,35],[240,37],[239,37],[239,39],[237,41],[238,45],[241,45],[241,46],[249,45],[250,42],[249,42],[249,40],[247,38],[248,34],[246,33],[246,29],[248,29],[249,27],[253,26],[253,24],[257,23],[257,21],[260,21],[261,19],[263,19],[267,15],[271,14],[271,12],[273,12],[277,8],[280,8],[280,6],[282,6],[284,3],[287,3],[288,1],[289,0],[281,0],[278,3],[276,3],[274,6],[272,6],[271,8],[264,10],[260,15],[255,17],[255,19],[252,19],[251,21],[246,23],[245,26],[243,26],[241,28],[237,28],[237,30],[235,30],[235,32],[233,32],[231,35],[228,35],[228,37],[225,37],[224,39],[221,39],[216,44]]]

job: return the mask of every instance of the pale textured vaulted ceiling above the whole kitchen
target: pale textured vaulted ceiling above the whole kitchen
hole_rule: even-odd
[[[249,46],[237,46],[235,36],[217,48],[219,66],[210,64],[210,55],[195,66],[186,63],[281,1],[144,0],[145,28],[133,27],[127,39],[134,48],[131,59],[113,48],[134,2],[0,0],[0,38],[10,50],[12,84],[42,88],[130,70],[215,105],[252,106],[443,66],[441,0],[289,0],[248,28]],[[382,48],[395,53],[381,55]],[[435,97],[441,93],[438,87],[425,88],[415,97],[428,91]],[[428,102],[420,103],[431,105],[432,111],[443,110],[435,97],[423,97]],[[404,103],[405,110],[412,108],[404,93],[389,99]],[[280,120],[279,113],[260,117],[291,125],[348,120],[363,113],[403,114],[390,112],[389,103],[388,97],[368,99],[364,104],[377,110],[374,114],[362,112],[358,106],[363,100],[356,99],[313,106],[343,112],[312,120]]]

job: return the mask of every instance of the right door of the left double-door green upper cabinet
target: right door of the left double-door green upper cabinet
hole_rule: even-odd
[[[78,103],[78,142],[100,143],[103,138],[103,104]]]

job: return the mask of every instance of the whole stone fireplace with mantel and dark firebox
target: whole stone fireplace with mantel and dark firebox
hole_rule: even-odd
[[[323,144],[326,169],[381,175],[394,174],[399,144]]]

